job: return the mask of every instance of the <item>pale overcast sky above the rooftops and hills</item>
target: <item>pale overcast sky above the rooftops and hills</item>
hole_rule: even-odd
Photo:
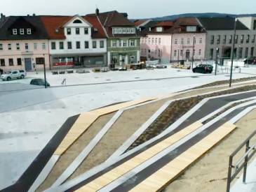
[[[130,19],[180,13],[256,13],[255,0],[1,0],[5,15],[86,15],[118,10]]]

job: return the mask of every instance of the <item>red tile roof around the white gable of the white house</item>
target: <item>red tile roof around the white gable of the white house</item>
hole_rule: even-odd
[[[41,16],[41,21],[50,39],[65,39],[66,37],[62,26],[71,19],[72,16]],[[86,15],[83,16],[83,19],[93,25],[92,38],[107,38],[105,31],[102,29],[95,15]],[[56,29],[58,29],[58,31],[56,31]],[[97,31],[95,29],[97,29]]]

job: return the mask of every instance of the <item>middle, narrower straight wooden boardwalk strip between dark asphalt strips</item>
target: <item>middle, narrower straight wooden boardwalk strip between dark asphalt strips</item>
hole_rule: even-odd
[[[178,140],[181,140],[185,136],[194,132],[196,129],[198,129],[202,125],[203,124],[201,124],[198,121],[195,122],[194,124],[191,124],[191,126],[188,126],[187,128],[182,129],[181,131],[170,136],[169,138],[166,138],[166,140],[159,142],[158,144],[154,145],[153,147],[150,147],[144,152],[137,154],[137,156],[130,158],[130,160],[124,162],[123,164],[117,166],[116,168],[109,170],[109,172],[106,172],[104,175],[96,178],[95,180],[81,187],[77,191],[83,192],[83,191],[88,191],[88,189],[90,189],[90,191],[100,190],[102,187],[113,182],[115,179],[121,177],[122,175],[126,174],[126,172],[133,170],[133,168],[137,167],[137,165],[140,165],[144,161],[147,161],[149,158],[155,156],[156,154],[159,154],[159,152],[163,151],[163,149],[170,147],[170,145],[173,145]],[[97,189],[94,188],[95,185],[98,186]],[[93,188],[95,190],[92,190]]]

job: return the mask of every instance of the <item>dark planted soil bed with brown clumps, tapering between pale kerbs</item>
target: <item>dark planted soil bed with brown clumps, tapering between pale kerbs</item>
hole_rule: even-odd
[[[182,99],[180,101],[174,101],[171,103],[168,108],[159,115],[159,117],[140,135],[133,145],[131,145],[127,150],[133,149],[138,145],[154,138],[156,135],[162,133],[168,126],[173,124],[177,119],[182,117],[186,112],[191,110],[197,103],[203,100],[203,98],[213,97],[213,96],[220,96],[225,94],[234,94],[241,91],[249,91],[256,89],[256,85],[252,86],[245,86],[245,87],[238,87],[235,89],[230,89],[226,91],[215,92],[213,94],[206,94],[203,96],[196,96],[191,98]]]

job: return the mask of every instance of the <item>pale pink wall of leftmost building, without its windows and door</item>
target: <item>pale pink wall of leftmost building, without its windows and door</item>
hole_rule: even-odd
[[[25,69],[25,58],[31,58],[32,64],[36,62],[36,57],[44,57],[46,68],[49,68],[49,50],[48,40],[1,40],[4,50],[0,50],[0,59],[5,59],[6,66],[0,66],[4,71]],[[11,43],[12,50],[8,50],[8,43]],[[20,43],[20,50],[16,49],[16,43]],[[25,50],[25,43],[28,43],[29,49]],[[37,48],[34,49],[34,43]],[[46,49],[43,50],[42,44],[46,43]],[[17,59],[22,59],[22,65],[18,66]],[[9,66],[8,59],[13,59],[14,66]],[[36,70],[42,70],[43,65],[36,65]],[[34,70],[32,65],[32,70]]]

